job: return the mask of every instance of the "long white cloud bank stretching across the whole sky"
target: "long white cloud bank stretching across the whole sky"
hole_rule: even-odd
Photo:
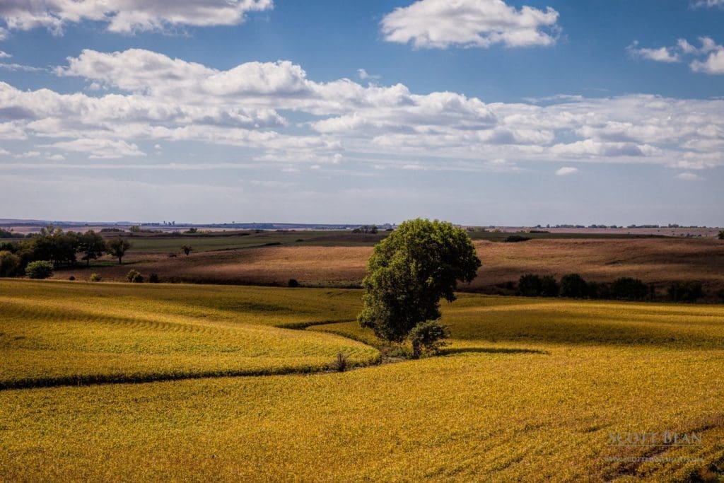
[[[109,91],[26,91],[0,82],[0,139],[119,163],[144,156],[139,146],[152,152],[186,142],[235,146],[245,161],[291,169],[724,166],[724,99],[560,95],[486,103],[454,92],[413,93],[403,84],[316,82],[289,61],[216,70],[140,49],[86,50],[54,72]]]

